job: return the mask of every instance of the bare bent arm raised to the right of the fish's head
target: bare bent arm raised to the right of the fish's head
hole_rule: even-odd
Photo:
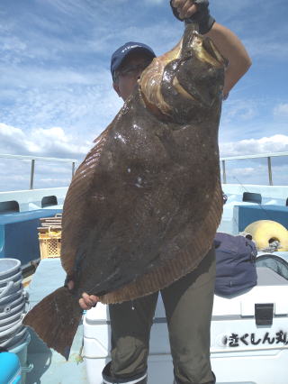
[[[247,72],[252,62],[247,54],[242,42],[228,28],[214,23],[211,31],[205,34],[220,50],[221,54],[229,60],[228,68],[225,72],[225,82],[223,94],[229,94],[229,91],[238,82],[239,78]]]

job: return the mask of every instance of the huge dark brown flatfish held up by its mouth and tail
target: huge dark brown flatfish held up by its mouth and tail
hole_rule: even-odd
[[[188,24],[142,73],[76,170],[63,210],[58,288],[26,315],[68,357],[82,292],[118,303],[165,288],[210,250],[222,212],[218,127],[225,59]]]

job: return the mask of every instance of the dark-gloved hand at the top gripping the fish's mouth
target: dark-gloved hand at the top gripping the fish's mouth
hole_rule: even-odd
[[[208,0],[170,0],[170,5],[178,20],[198,23],[201,34],[209,32],[215,22],[209,12]]]

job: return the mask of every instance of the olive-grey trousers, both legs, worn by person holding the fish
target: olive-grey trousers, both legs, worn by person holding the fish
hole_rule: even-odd
[[[215,382],[210,363],[214,281],[215,252],[212,249],[196,270],[161,290],[178,384]],[[158,292],[110,306],[112,377],[129,381],[146,372],[157,296]]]

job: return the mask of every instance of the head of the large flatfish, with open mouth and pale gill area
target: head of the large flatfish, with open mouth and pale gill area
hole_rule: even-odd
[[[191,123],[219,112],[227,60],[210,38],[187,24],[182,40],[153,59],[139,80],[152,111],[175,123]]]

